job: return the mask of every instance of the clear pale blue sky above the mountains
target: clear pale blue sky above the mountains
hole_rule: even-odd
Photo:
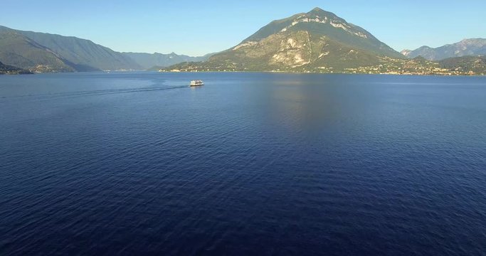
[[[89,39],[120,52],[204,55],[319,7],[395,50],[486,38],[486,1],[2,0],[0,26]]]

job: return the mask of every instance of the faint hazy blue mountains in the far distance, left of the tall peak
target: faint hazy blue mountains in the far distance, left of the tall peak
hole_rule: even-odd
[[[204,61],[211,56],[211,54],[208,54],[201,57],[191,57],[188,55],[177,55],[176,53],[123,53],[123,55],[128,56],[144,69],[152,67],[164,68],[183,62]]]

